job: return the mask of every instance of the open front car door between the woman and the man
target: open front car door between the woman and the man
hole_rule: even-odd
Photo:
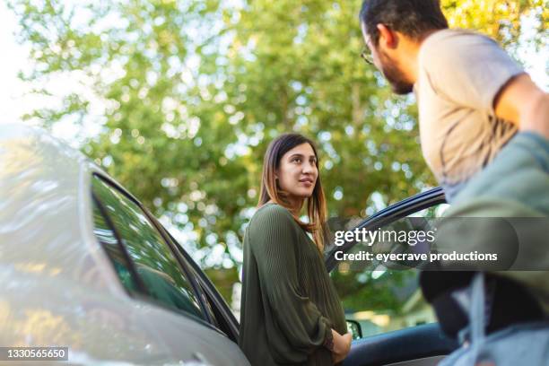
[[[385,231],[410,222],[424,225],[429,222],[426,218],[440,216],[447,206],[442,190],[434,188],[391,205],[347,230]],[[349,241],[327,250],[327,269],[344,303],[345,318],[362,331],[360,335],[354,332],[344,365],[437,364],[457,348],[457,343],[442,334],[431,307],[423,301],[418,270],[357,265],[336,255],[337,251],[359,252],[362,245],[367,244]]]

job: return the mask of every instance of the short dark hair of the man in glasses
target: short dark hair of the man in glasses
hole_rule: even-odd
[[[429,30],[448,28],[439,0],[364,0],[360,19],[374,45],[379,41],[379,23],[412,39],[420,39]]]

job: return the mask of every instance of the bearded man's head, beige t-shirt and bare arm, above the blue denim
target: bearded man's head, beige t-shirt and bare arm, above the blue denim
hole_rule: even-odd
[[[449,30],[436,0],[365,0],[362,54],[415,92],[423,156],[452,201],[510,138],[549,138],[549,96],[487,37]],[[546,142],[546,141],[545,141]]]

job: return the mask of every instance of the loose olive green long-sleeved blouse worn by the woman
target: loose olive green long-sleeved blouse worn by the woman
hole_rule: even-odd
[[[292,214],[262,206],[244,235],[240,348],[252,366],[331,365],[323,345],[347,332],[324,258]]]

